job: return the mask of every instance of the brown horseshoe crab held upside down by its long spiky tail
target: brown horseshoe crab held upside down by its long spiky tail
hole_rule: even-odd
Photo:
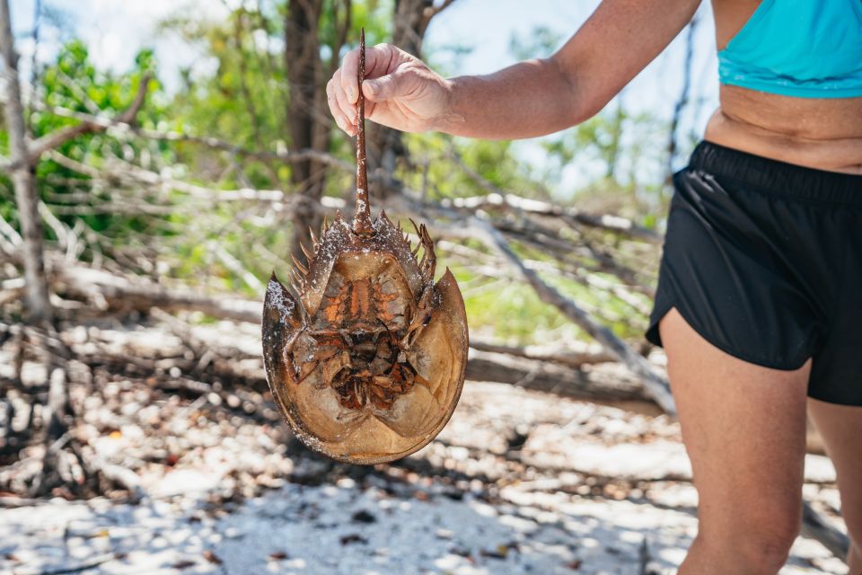
[[[365,33],[359,78],[365,77]],[[354,464],[399,459],[444,428],[461,395],[467,317],[448,269],[434,283],[425,225],[407,234],[372,220],[365,173],[365,101],[359,90],[356,216],[338,212],[294,259],[292,294],[273,273],[263,308],[269,389],[296,437]],[[418,252],[421,258],[417,259]]]

